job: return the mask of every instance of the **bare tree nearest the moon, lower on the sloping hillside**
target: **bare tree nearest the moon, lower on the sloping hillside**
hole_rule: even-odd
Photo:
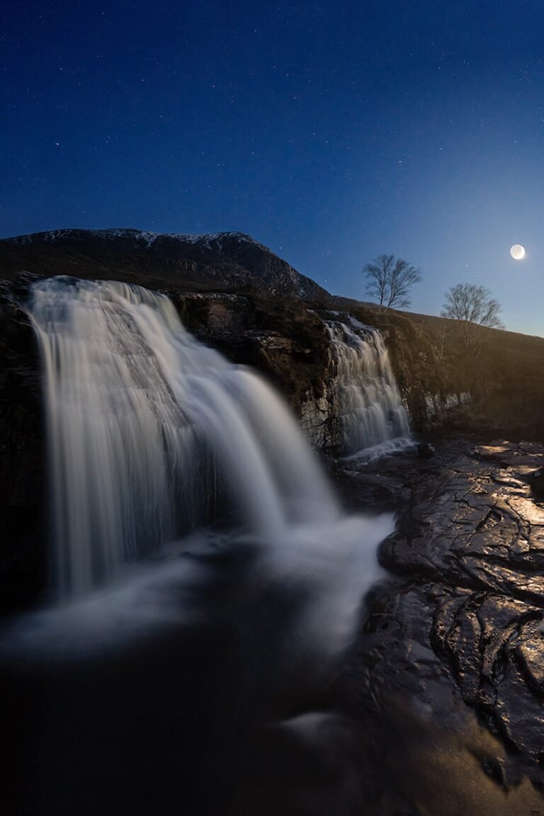
[[[475,283],[458,283],[446,292],[446,300],[440,317],[462,322],[462,334],[465,344],[470,346],[480,336],[480,326],[492,329],[503,329],[504,324],[498,317],[501,305],[491,296],[485,286]]]

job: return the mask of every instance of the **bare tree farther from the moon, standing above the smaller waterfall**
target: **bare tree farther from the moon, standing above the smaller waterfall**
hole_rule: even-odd
[[[387,308],[409,306],[409,290],[422,278],[418,268],[394,255],[378,255],[366,264],[363,274],[367,277],[367,294]]]

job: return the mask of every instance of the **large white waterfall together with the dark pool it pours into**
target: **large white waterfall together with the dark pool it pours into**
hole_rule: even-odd
[[[54,278],[29,314],[55,592],[1,636],[9,812],[352,814],[328,689],[391,515],[342,512],[281,399],[164,295]]]

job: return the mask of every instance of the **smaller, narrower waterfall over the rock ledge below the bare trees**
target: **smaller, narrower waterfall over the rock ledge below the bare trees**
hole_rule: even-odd
[[[342,455],[370,460],[409,446],[408,414],[382,335],[353,319],[352,326],[329,322],[327,329]]]

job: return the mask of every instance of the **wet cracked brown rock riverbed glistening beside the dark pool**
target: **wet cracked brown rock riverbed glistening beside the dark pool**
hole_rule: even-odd
[[[544,813],[543,454],[444,441],[338,470],[352,505],[402,507],[336,690],[365,813]]]

